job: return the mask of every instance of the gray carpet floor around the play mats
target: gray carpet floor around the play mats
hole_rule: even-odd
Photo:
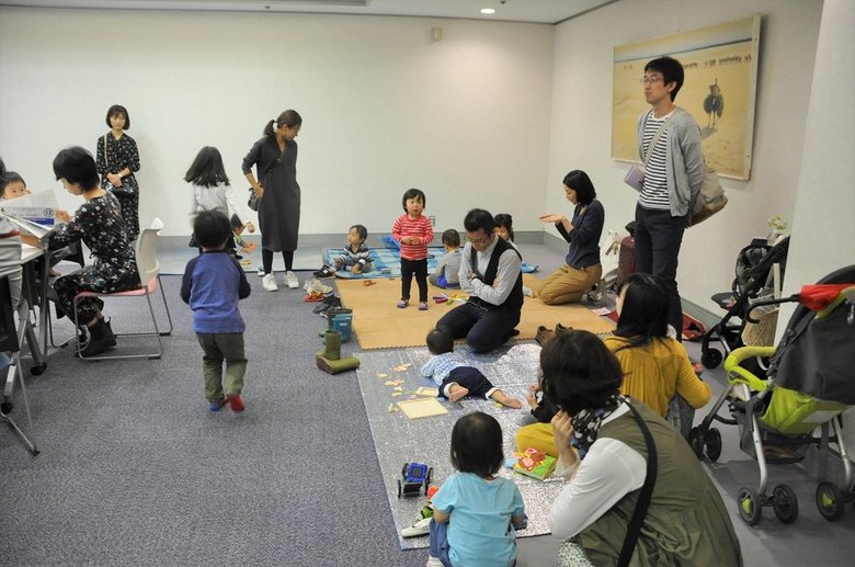
[[[536,248],[526,261],[561,261]],[[32,457],[0,431],[0,563],[424,565],[425,551],[400,549],[356,373],[330,376],[315,366],[323,319],[301,291],[264,293],[260,279],[250,283],[253,293],[241,302],[250,360],[242,415],[207,411],[176,276],[164,277],[175,331],[162,360],[84,363],[64,349],[43,375],[27,378],[42,454]],[[107,307],[116,328],[141,326],[140,313]],[[70,328],[59,321],[56,331],[61,338]],[[699,356],[696,344],[687,347]],[[720,392],[720,370],[705,379]],[[15,401],[21,421],[20,395]],[[855,511],[834,523],[820,518],[816,461],[771,467],[771,486],[796,489],[796,523],[780,524],[770,509],[755,528],[740,522],[737,491],[756,484],[756,464],[739,450],[736,428],[720,429],[723,451],[707,469],[746,565],[851,565]],[[557,542],[524,537],[518,547],[520,567],[548,566]]]

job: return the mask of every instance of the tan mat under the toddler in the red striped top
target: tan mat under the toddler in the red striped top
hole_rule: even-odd
[[[526,281],[529,275],[524,275]],[[372,285],[365,285],[365,282]],[[430,286],[429,309],[418,309],[418,286],[412,284],[410,306],[399,309],[396,305],[401,296],[400,279],[381,280],[337,280],[335,285],[344,307],[353,309],[353,330],[356,333],[360,348],[387,349],[401,347],[421,347],[428,332],[436,326],[436,321],[455,305],[452,303],[436,304],[434,295],[448,293],[446,290]],[[522,318],[516,326],[520,331],[517,340],[534,339],[537,327],[554,328],[560,322],[566,327],[585,329],[602,334],[611,332],[614,324],[605,317],[595,315],[584,305],[545,305],[536,297],[526,297],[523,304]]]

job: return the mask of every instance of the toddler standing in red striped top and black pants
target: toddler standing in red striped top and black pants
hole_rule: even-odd
[[[428,310],[428,245],[433,240],[431,220],[422,214],[428,200],[419,189],[403,194],[404,214],[392,225],[392,239],[401,245],[401,300],[398,308],[410,305],[412,276],[419,284],[419,310]]]

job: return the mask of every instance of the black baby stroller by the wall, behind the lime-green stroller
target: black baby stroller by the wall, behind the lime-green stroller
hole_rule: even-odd
[[[709,328],[700,341],[700,363],[704,366],[717,367],[725,355],[742,347],[741,336],[745,326],[745,313],[752,302],[771,293],[775,264],[780,268],[779,277],[783,279],[788,249],[789,237],[787,236],[774,246],[771,246],[765,238],[755,238],[740,250],[732,290],[717,293],[711,297],[727,313],[718,324]],[[731,321],[732,319],[738,321]],[[720,350],[710,347],[713,341],[721,344],[723,354]]]

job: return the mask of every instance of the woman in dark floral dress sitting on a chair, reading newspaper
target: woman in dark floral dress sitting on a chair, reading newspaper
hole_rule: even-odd
[[[54,173],[72,195],[82,195],[86,203],[70,216],[57,211],[60,223],[42,237],[47,250],[56,250],[82,240],[91,251],[94,263],[82,270],[58,277],[54,290],[59,307],[73,318],[75,296],[81,292],[115,293],[140,286],[134,249],[125,234],[122,207],[112,193],[100,188],[95,160],[86,149],[76,146],[64,149],[54,159]],[[101,308],[104,302],[96,297],[83,297],[78,302],[75,321],[89,330],[90,339],[81,351],[82,356],[93,356],[115,347],[116,338],[104,321]]]

